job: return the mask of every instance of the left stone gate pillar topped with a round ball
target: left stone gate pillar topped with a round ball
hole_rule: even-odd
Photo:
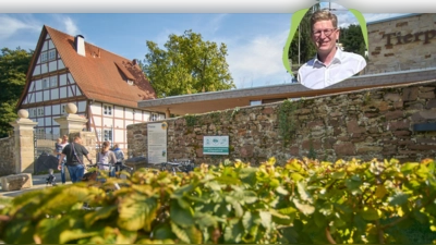
[[[28,111],[21,109],[19,119],[10,124],[14,127],[15,173],[34,173],[35,139],[34,127],[38,123],[28,119]]]

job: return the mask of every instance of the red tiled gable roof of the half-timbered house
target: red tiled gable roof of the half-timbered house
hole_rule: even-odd
[[[156,98],[155,90],[140,65],[133,64],[131,60],[90,45],[86,42],[86,57],[80,56],[75,50],[73,36],[47,25],[43,27],[43,38],[39,38],[39,42],[44,41],[47,33],[50,35],[65,68],[68,68],[75,83],[88,99],[137,108],[138,101]],[[40,45],[37,45],[34,56],[39,56],[38,49],[41,47]],[[32,69],[27,74],[28,81],[32,78],[36,60],[37,58],[34,57],[31,64]],[[121,68],[118,68],[118,65]],[[133,85],[129,85],[125,78],[134,81]],[[23,93],[22,99],[26,91],[27,87]],[[22,99],[19,105],[21,105]]]

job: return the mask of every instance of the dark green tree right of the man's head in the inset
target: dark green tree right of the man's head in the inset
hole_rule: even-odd
[[[348,52],[365,56],[365,40],[363,38],[360,25],[349,25],[347,28],[340,28],[339,40],[343,46],[343,50]]]

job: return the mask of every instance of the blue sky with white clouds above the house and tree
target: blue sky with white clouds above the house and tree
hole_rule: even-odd
[[[331,8],[337,9],[340,26],[356,23],[344,7],[331,3]],[[372,22],[408,13],[363,14]],[[192,29],[204,40],[227,45],[237,88],[258,87],[291,83],[281,60],[291,17],[290,13],[0,13],[0,48],[35,49],[43,25],[48,25],[83,35],[85,41],[128,59],[144,60],[147,40],[164,48],[170,34]]]

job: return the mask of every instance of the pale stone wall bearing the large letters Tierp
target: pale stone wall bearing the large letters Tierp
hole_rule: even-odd
[[[365,74],[436,68],[436,13],[367,25]]]

